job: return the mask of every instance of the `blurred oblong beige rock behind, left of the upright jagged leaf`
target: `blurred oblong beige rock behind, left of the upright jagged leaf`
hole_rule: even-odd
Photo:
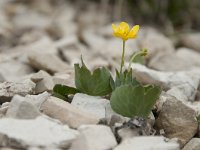
[[[63,72],[69,68],[58,56],[44,53],[30,53],[29,63],[38,70],[45,70],[49,73]]]

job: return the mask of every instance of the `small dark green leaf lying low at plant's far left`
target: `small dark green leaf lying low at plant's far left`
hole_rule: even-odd
[[[63,100],[67,100],[69,94],[76,94],[79,91],[76,88],[69,87],[66,85],[56,84],[53,88],[53,96]]]

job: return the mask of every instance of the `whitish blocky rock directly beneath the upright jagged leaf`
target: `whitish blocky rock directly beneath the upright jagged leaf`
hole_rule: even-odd
[[[110,101],[102,99],[101,97],[78,93],[74,95],[71,104],[85,112],[95,115],[97,118],[105,118],[106,106],[110,104]]]

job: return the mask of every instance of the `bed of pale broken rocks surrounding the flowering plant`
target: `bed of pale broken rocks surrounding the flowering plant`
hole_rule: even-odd
[[[90,69],[119,67],[121,43],[112,37],[109,16],[97,17],[98,6],[90,7],[0,1],[0,149],[198,150],[200,33],[181,35],[178,49],[150,27],[128,41],[127,58],[149,49],[147,67],[132,64],[134,76],[163,88],[142,129],[105,98],[79,93],[69,103],[51,95],[55,84],[74,86],[81,54]]]

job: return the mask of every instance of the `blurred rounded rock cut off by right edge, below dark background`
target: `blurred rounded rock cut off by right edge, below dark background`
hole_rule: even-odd
[[[200,51],[200,33],[187,33],[180,37],[183,46]]]

